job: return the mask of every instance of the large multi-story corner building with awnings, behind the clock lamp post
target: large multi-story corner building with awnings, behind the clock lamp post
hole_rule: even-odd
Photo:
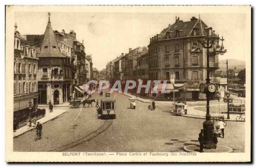
[[[180,83],[176,86],[184,84],[179,93],[175,93],[177,97],[205,99],[205,94],[199,93],[198,85],[205,82],[207,56],[206,49],[198,40],[207,36],[218,39],[212,27],[208,27],[200,17],[192,17],[186,22],[181,21],[179,17],[176,18],[174,24],[150,38],[149,79],[170,80],[170,76],[175,75],[175,83]],[[224,49],[223,46],[219,48]],[[212,82],[215,81],[215,71],[219,68],[219,54],[216,54],[215,50],[216,47],[210,49],[209,57]]]

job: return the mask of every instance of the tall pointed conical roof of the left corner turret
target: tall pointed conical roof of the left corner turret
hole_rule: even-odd
[[[41,52],[37,55],[37,57],[65,57],[63,54],[61,54],[57,40],[52,31],[50,15],[48,24],[44,32],[44,39],[41,44]]]

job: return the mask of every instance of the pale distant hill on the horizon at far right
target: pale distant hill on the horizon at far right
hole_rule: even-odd
[[[220,70],[221,71],[226,71],[227,70],[227,65],[226,65],[227,60],[220,60]],[[236,71],[241,71],[242,69],[245,68],[245,61],[241,60],[236,60],[236,59],[228,59],[228,69],[234,69],[236,67]]]

